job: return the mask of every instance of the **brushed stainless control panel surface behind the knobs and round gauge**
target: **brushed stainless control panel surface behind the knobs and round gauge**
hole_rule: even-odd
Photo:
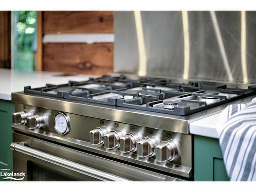
[[[24,110],[24,104],[15,104],[15,111]],[[164,172],[178,174],[184,177],[190,176],[191,171],[191,135],[173,133],[165,130],[152,129],[152,127],[140,127],[133,124],[124,124],[121,122],[113,122],[104,119],[97,119],[94,117],[88,117],[86,114],[77,115],[68,113],[65,114],[70,119],[70,132],[67,135],[59,135],[54,129],[54,117],[58,114],[54,108],[38,108],[35,106],[26,105],[27,112],[34,112],[44,116],[44,125],[40,129],[28,130],[24,124],[13,125],[13,130],[23,132],[26,134],[34,135],[40,138],[45,138],[51,141],[72,145],[78,148],[83,148],[87,151],[96,152],[98,154],[112,156],[125,161],[130,161],[136,164],[142,164],[145,166],[153,167]],[[117,124],[116,124],[117,123]],[[155,136],[162,140],[169,140],[170,138],[179,141],[180,143],[180,157],[172,162],[157,163],[155,157],[139,158],[137,152],[122,154],[117,148],[108,150],[102,145],[91,145],[89,143],[89,132],[96,127],[106,126],[108,130],[115,131],[120,130],[123,134],[135,131],[145,136]],[[117,125],[117,126],[116,126]],[[131,130],[131,126],[133,129]],[[178,125],[177,125],[178,126]],[[116,128],[118,127],[118,128]]]

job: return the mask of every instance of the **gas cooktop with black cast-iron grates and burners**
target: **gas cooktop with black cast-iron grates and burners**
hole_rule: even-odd
[[[212,86],[212,84],[215,84]],[[213,106],[239,99],[256,92],[229,88],[227,84],[210,82],[174,83],[171,79],[104,75],[87,81],[67,84],[46,84],[45,87],[25,87],[25,94],[91,102],[123,108],[186,116]]]

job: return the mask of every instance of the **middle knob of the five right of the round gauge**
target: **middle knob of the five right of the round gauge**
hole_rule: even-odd
[[[134,152],[136,151],[136,144],[140,140],[136,134],[126,134],[120,138],[119,151],[122,153]]]

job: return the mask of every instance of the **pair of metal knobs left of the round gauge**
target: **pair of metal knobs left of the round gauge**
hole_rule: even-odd
[[[12,122],[13,124],[26,124],[28,129],[39,129],[44,125],[44,117],[20,111],[12,114]]]

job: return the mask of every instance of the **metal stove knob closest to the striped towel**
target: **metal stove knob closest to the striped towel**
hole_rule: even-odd
[[[179,157],[178,145],[173,140],[162,141],[156,146],[156,161],[172,161]]]

